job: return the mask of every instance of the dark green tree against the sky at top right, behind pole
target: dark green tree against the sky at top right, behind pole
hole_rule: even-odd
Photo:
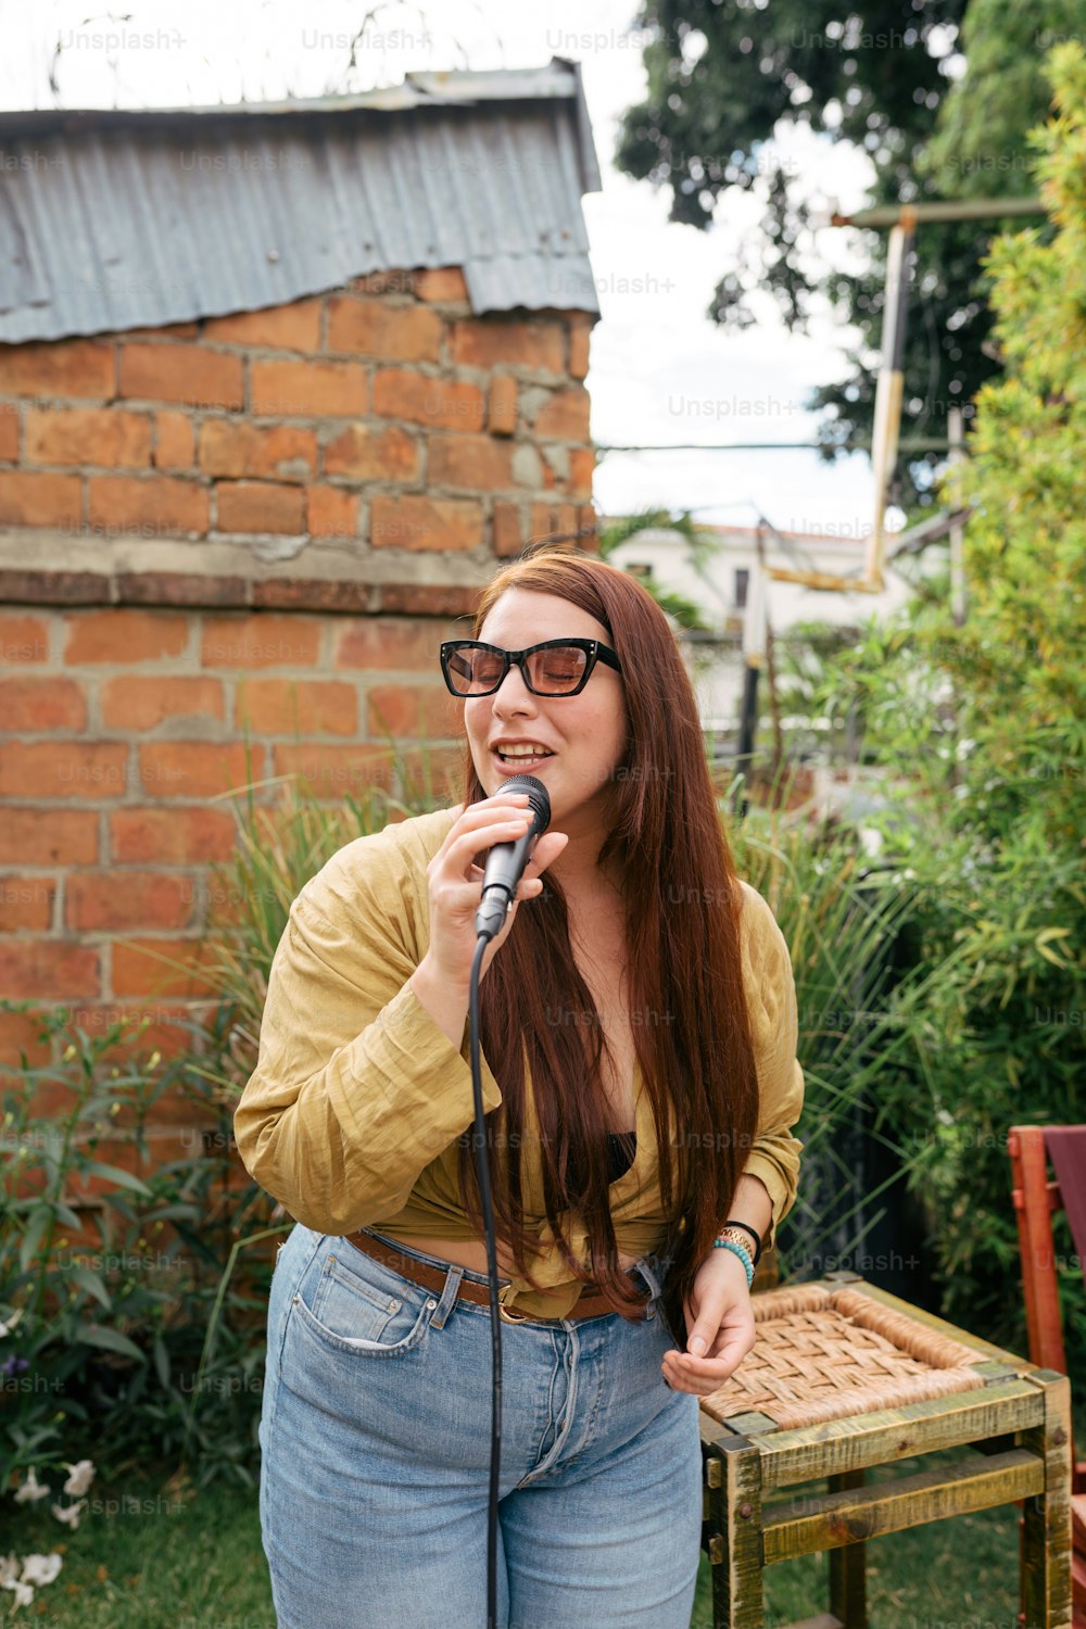
[[[886,233],[866,233],[861,277],[819,262],[809,204],[767,143],[809,125],[871,158],[871,202],[1029,192],[1026,132],[1047,112],[1045,41],[1081,31],[1083,0],[646,0],[638,23],[648,94],[622,121],[617,165],[671,187],[671,220],[705,230],[729,189],[765,181],[762,230],[716,287],[708,316],[755,316],[749,295],[775,295],[790,331],[830,301],[860,332],[852,371],[821,386],[827,458],[871,435]],[[967,70],[954,78],[964,49]],[[998,222],[923,225],[915,239],[902,438],[941,435],[948,407],[969,402],[996,370],[980,257]],[[910,456],[892,497],[931,500],[938,454]]]

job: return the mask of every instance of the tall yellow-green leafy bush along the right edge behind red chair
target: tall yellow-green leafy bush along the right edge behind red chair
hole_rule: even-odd
[[[1086,1010],[1086,52],[1047,65],[1057,116],[1031,137],[1047,228],[983,261],[1003,376],[977,394],[970,458],[944,495],[964,531],[967,614],[928,582],[827,663],[819,707],[863,718],[886,774],[886,865],[918,898],[935,981],[915,1059],[878,1087],[878,1124],[915,1137],[943,1311],[1023,1349],[1006,1132],[1083,1117]],[[1086,1362],[1081,1274],[1057,1225],[1068,1362]]]

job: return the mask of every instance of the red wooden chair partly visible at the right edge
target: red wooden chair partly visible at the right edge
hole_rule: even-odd
[[[1066,1375],[1052,1214],[1066,1210],[1086,1280],[1086,1126],[1011,1126],[1011,1197],[1018,1220],[1029,1359]],[[1049,1179],[1049,1160],[1055,1181]],[[1021,1523],[1019,1523],[1021,1526]],[[1086,1629],[1086,1460],[1075,1458],[1071,1434],[1071,1601],[1073,1629]]]

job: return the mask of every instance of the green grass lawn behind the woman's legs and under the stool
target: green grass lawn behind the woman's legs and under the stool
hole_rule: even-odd
[[[1076,1447],[1079,1440],[1086,1443],[1086,1411],[1076,1409],[1075,1430]],[[935,1468],[952,1458],[939,1453],[900,1460],[876,1468],[869,1479]],[[52,1482],[55,1491],[60,1478]],[[825,1484],[809,1484],[808,1491],[819,1486]],[[0,1554],[62,1549],[63,1567],[54,1583],[34,1592],[29,1609],[16,1611],[15,1596],[0,1592],[0,1622],[68,1629],[275,1629],[256,1489],[197,1491],[168,1469],[155,1474],[145,1468],[114,1487],[94,1481],[86,1499],[75,1533],[52,1517],[47,1508],[52,1500],[42,1500],[39,1508],[23,1507],[8,1521]],[[926,1624],[1014,1629],[1018,1508],[1001,1505],[871,1541],[868,1606],[871,1629]],[[767,1570],[767,1626],[827,1609],[827,1554]],[[712,1629],[705,1556],[690,1629]]]

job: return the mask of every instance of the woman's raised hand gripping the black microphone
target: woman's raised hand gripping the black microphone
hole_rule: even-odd
[[[459,805],[459,810],[444,842],[427,867],[430,948],[410,976],[415,997],[458,1047],[467,1016],[471,964],[477,943],[475,911],[482,899],[484,868],[474,863],[475,855],[493,849],[498,842],[516,842],[531,821],[524,792],[498,792],[479,803]],[[484,951],[480,982],[505,943],[521,901],[539,898],[541,873],[558,858],[568,841],[562,831],[547,831],[536,841],[518,883],[513,909]]]

